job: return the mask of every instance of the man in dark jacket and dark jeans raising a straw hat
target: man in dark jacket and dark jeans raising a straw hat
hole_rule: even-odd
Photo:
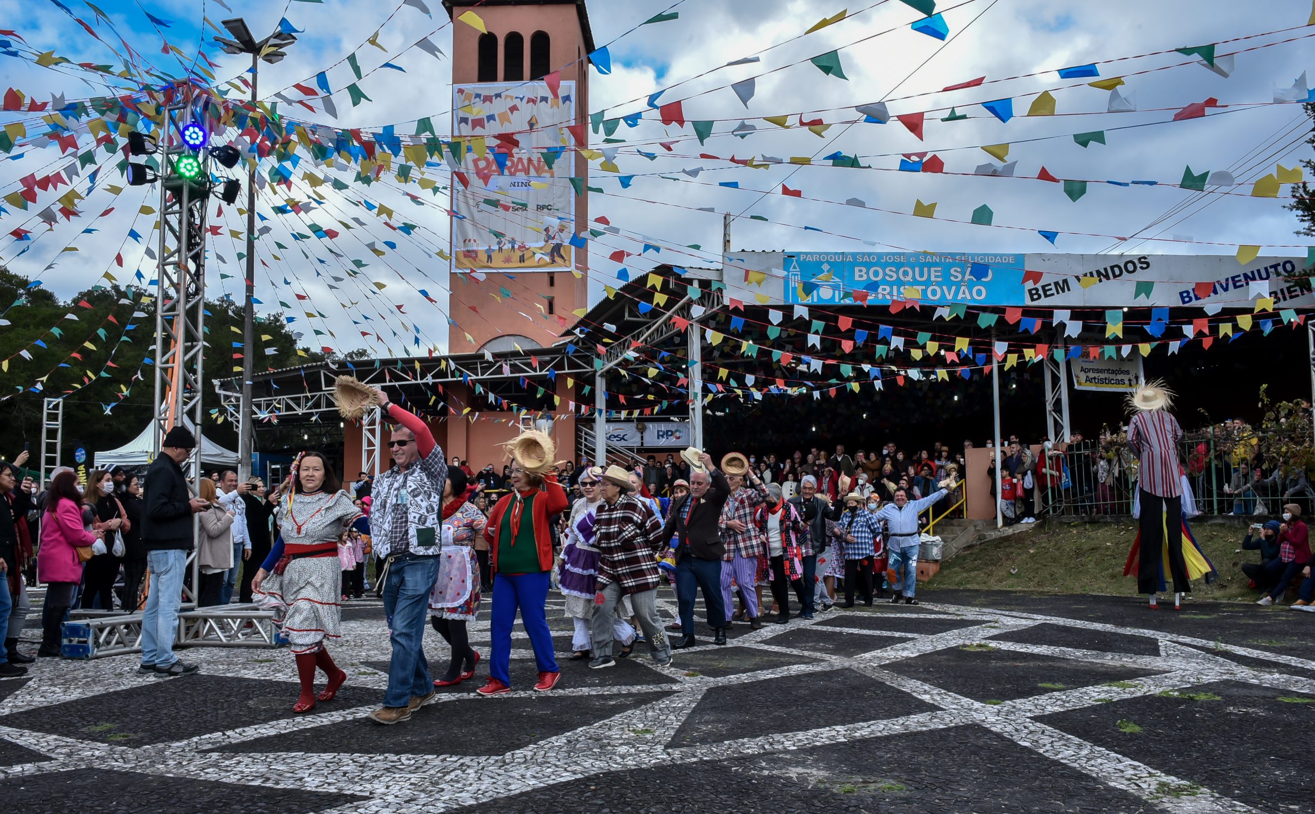
[[[681,458],[697,452],[690,447]],[[717,523],[722,517],[722,505],[730,497],[731,487],[726,476],[713,468],[707,452],[698,452],[698,467],[690,468],[689,494],[677,498],[671,505],[671,515],[661,530],[661,539],[679,537],[676,547],[676,602],[680,608],[680,639],[671,643],[672,648],[694,647],[694,600],[698,590],[704,592],[704,608],[707,623],[717,629],[717,644],[726,644],[726,605],[722,601],[722,543]],[[752,590],[752,588],[750,589]]]

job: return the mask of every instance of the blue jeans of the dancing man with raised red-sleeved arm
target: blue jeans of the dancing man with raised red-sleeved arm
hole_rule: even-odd
[[[413,696],[434,689],[425,660],[425,617],[429,594],[438,580],[438,558],[402,554],[388,567],[384,583],[384,617],[388,619],[393,656],[388,661],[388,692],[384,706],[406,706]]]

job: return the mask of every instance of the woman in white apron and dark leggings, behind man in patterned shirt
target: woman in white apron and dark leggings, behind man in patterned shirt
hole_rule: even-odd
[[[429,597],[430,622],[443,636],[452,655],[447,672],[434,686],[452,686],[475,676],[480,654],[471,647],[467,622],[480,611],[480,562],[475,540],[484,534],[488,519],[471,497],[475,487],[459,468],[447,469],[443,483],[443,552],[438,555],[438,579]]]

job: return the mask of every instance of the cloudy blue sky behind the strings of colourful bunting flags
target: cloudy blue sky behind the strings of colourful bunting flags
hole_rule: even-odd
[[[0,20],[30,46],[20,49],[20,58],[3,63],[5,84],[37,100],[55,93],[67,99],[104,93],[103,87],[85,82],[91,75],[84,71],[68,66],[53,70],[33,62],[36,54],[54,51],[74,62],[118,67],[113,53],[72,17],[85,20],[105,42],[122,51],[109,24],[97,21],[82,0],[60,1],[71,14],[55,0],[0,0]],[[280,105],[280,112],[330,126],[377,129],[396,124],[398,134],[413,133],[414,120],[431,116],[435,129],[446,132],[452,107],[451,63],[446,57],[435,59],[412,47],[429,34],[444,54],[451,53],[451,24],[439,0],[419,4],[413,0],[412,5],[398,5],[394,0],[225,3],[231,12],[220,8],[216,0],[103,0],[97,7],[145,59],[172,72],[179,72],[179,59],[160,53],[162,32],[189,64],[201,38],[203,12],[216,24],[241,14],[258,34],[274,30],[285,17],[304,33],[284,62],[262,68],[262,97],[274,101],[275,91],[299,82],[314,85],[314,75],[327,70],[339,117],[288,105]],[[846,5],[831,0],[689,0],[676,4],[677,20],[631,30],[673,3],[588,4],[594,39],[598,45],[608,43],[613,63],[606,76],[590,68],[590,107],[606,109],[609,118],[647,110],[639,126],[622,125],[618,133],[638,142],[623,145],[617,155],[621,172],[636,176],[630,188],[622,189],[613,174],[597,170],[597,163],[592,172],[590,184],[602,187],[605,193],[592,196],[590,214],[606,216],[621,230],[619,235],[608,234],[593,245],[594,297],[601,296],[604,283],[615,284],[617,264],[606,255],[617,249],[639,252],[642,242],[663,246],[660,255],[651,251],[646,255],[647,264],[717,263],[722,212],[740,216],[732,226],[735,249],[863,251],[876,246],[1232,255],[1237,245],[1261,245],[1262,254],[1306,254],[1298,247],[1303,241],[1293,234],[1295,220],[1279,201],[1251,197],[1249,181],[1274,172],[1276,164],[1293,167],[1298,158],[1311,155],[1303,143],[1310,126],[1301,107],[1269,104],[1276,89],[1293,85],[1298,75],[1315,67],[1311,59],[1315,28],[1306,26],[1310,0],[940,1],[938,11],[943,12],[949,32],[944,42],[911,30],[909,24],[922,14],[898,0],[851,0],[848,18],[807,36],[802,36],[805,30]],[[417,8],[423,4],[433,16]],[[1264,13],[1257,13],[1257,8]],[[168,25],[153,24],[146,12]],[[366,42],[375,32],[381,47]],[[212,34],[205,30],[205,39]],[[1241,39],[1224,42],[1236,38]],[[1180,64],[1194,58],[1173,51],[1207,43],[1219,43],[1216,71],[1203,63]],[[832,49],[838,50],[847,80],[828,76],[809,62]],[[1233,51],[1235,57],[1224,57]],[[355,108],[341,91],[352,78],[346,63],[352,53],[366,71],[359,87],[372,99]],[[208,54],[220,64],[216,74],[221,82],[247,67],[216,49],[208,49]],[[727,67],[752,57],[757,62]],[[1135,99],[1135,112],[1109,113],[1110,93],[1085,84],[1093,79],[1061,80],[1056,75],[1056,70],[1068,66],[1111,59],[1119,62],[1101,64],[1099,74],[1124,78],[1119,92]],[[380,67],[385,62],[402,70]],[[757,78],[755,95],[746,105],[729,85],[751,76]],[[986,79],[982,87],[942,91],[982,76]],[[668,89],[661,101],[685,100],[686,120],[715,122],[705,145],[700,146],[689,126],[663,126],[656,121],[656,112],[644,100],[663,88]],[[1043,91],[1052,91],[1057,114],[1026,116]],[[300,99],[301,93],[293,91],[289,96]],[[1211,116],[1203,118],[1169,121],[1184,107],[1210,97],[1230,107],[1211,109]],[[998,121],[981,107],[995,99],[1014,100],[1011,121]],[[882,100],[892,116],[928,110],[923,141],[894,120],[855,122],[856,105]],[[939,121],[951,105],[968,118]],[[818,128],[821,134],[814,134],[798,126],[801,113],[806,120],[822,120],[831,126]],[[772,116],[788,116],[793,126],[781,129],[764,120]],[[32,116],[0,117],[4,124],[18,120],[29,122],[29,134],[38,132]],[[731,134],[742,120],[756,128],[743,139]],[[1105,130],[1105,145],[1082,147],[1072,138],[1074,133],[1095,130]],[[659,147],[660,141],[675,142],[671,151]],[[87,143],[84,137],[82,145]],[[981,164],[999,163],[980,149],[982,145],[1009,145],[1006,160],[1018,162],[1016,178],[972,175]],[[659,156],[650,160],[638,150]],[[857,155],[861,164],[872,168],[832,167],[831,162],[818,160],[815,166],[751,170],[725,160],[732,154],[740,159],[821,159],[838,151]],[[901,154],[913,153],[935,153],[945,172],[898,172]],[[20,154],[21,159],[13,158]],[[0,160],[3,193],[17,189],[22,176],[50,172],[68,160],[60,159],[53,146],[20,147],[13,155]],[[1093,183],[1074,203],[1061,184],[1036,180],[1045,167],[1066,179],[1177,184],[1185,166],[1195,174],[1228,170],[1239,185],[1201,195],[1168,185]],[[681,174],[700,167],[697,178]],[[274,214],[271,206],[284,199],[308,197],[310,189],[300,180],[301,170],[308,168],[314,171],[308,164],[299,168],[291,195],[262,192],[258,212],[270,217],[264,224],[270,230],[258,251],[268,267],[258,272],[256,296],[266,304],[264,310],[276,310],[280,299],[293,302],[295,295],[308,297],[293,302],[297,308],[291,313],[297,316],[293,327],[306,333],[305,342],[312,346],[331,345],[338,350],[364,346],[387,354],[417,351],[418,339],[421,352],[430,346],[446,348],[447,263],[434,254],[447,249],[446,195],[423,193],[426,205],[417,205],[396,189],[376,184],[364,193],[358,189],[329,193],[323,208],[305,217]],[[262,170],[267,168],[262,164]],[[431,170],[430,176],[447,183],[442,171]],[[350,174],[338,178],[351,180]],[[85,192],[85,180],[84,171],[76,181],[79,192]],[[721,181],[738,181],[740,188],[719,187]],[[0,231],[21,226],[37,239],[18,243],[8,234],[0,237],[0,259],[13,271],[39,277],[60,295],[85,287],[107,268],[122,281],[135,268],[150,279],[153,263],[143,254],[145,243],[125,235],[135,229],[143,239],[150,237],[154,216],[142,214],[139,208],[158,205],[158,192],[125,188],[116,199],[105,189],[114,183],[121,183],[116,172],[103,172],[96,192],[80,206],[82,217],[60,222],[50,234],[43,234],[45,226],[33,218],[62,191],[43,195],[38,206],[28,212],[7,206],[9,212],[0,217],[4,226]],[[801,197],[778,195],[782,183],[801,191]],[[414,185],[408,189],[421,192]],[[387,203],[402,220],[421,229],[412,237],[387,229],[352,203],[362,197]],[[844,205],[849,199],[864,201],[867,208]],[[911,217],[918,200],[936,204],[935,220]],[[982,204],[994,213],[993,226],[968,222]],[[101,214],[109,206],[114,212]],[[700,208],[715,212],[698,212]],[[750,216],[767,221],[748,220]],[[333,243],[296,243],[291,238],[292,231],[308,231],[309,222],[331,225],[337,220],[351,222],[352,217],[364,225]],[[222,234],[210,241],[210,293],[239,297],[241,268],[235,256],[239,243],[227,229],[241,230],[242,218],[235,208],[225,208],[222,216],[212,208],[212,218]],[[88,227],[95,231],[79,233]],[[1056,246],[1039,237],[1038,230],[1059,231]],[[274,241],[288,249],[279,249]],[[383,241],[396,242],[397,249]],[[370,243],[384,251],[384,256],[371,252]],[[701,245],[713,254],[685,249],[688,245]],[[78,251],[64,251],[70,246]],[[310,259],[301,256],[299,246],[306,247]],[[24,249],[28,251],[18,255]],[[330,249],[342,256],[333,255]],[[113,266],[118,254],[125,260],[124,270]],[[370,263],[356,277],[345,274],[354,259]],[[629,266],[644,267],[636,259]],[[437,304],[426,301],[418,293],[421,289]],[[323,317],[305,317],[306,302]],[[534,314],[531,304],[525,310]],[[469,316],[458,316],[466,318]],[[334,337],[321,342],[309,335],[312,327],[331,330]],[[363,338],[362,330],[372,335]]]

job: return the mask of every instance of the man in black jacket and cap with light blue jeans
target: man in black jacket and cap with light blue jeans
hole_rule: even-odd
[[[197,671],[195,664],[184,664],[174,655],[187,552],[195,542],[192,514],[209,508],[200,497],[191,497],[181,469],[195,448],[196,437],[187,427],[175,426],[146,471],[142,546],[151,569],[151,593],[142,613],[142,664],[137,668],[141,676],[170,679]]]

